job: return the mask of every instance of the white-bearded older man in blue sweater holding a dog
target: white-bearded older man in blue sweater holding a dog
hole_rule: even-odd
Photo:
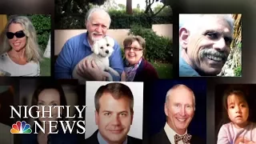
[[[110,15],[100,8],[92,8],[86,14],[86,33],[70,38],[62,48],[54,67],[55,78],[70,79],[74,67],[86,56],[93,53],[91,47],[98,39],[106,36],[110,28]],[[114,53],[110,56],[110,66],[121,75],[123,71],[122,53],[118,42],[115,41]],[[94,61],[86,61],[79,66],[78,74],[92,81],[106,80],[106,74],[99,69]],[[120,77],[111,74],[114,81]]]

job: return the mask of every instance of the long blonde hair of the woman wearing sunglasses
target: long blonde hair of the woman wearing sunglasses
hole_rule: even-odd
[[[7,22],[6,27],[0,36],[0,54],[4,54],[12,49],[8,42],[8,38],[6,37],[6,32],[8,32],[11,23],[21,24],[23,32],[26,34],[25,54],[27,61],[40,62],[42,59],[42,52],[38,46],[37,34],[32,22],[30,22],[30,19],[25,16],[13,16]]]

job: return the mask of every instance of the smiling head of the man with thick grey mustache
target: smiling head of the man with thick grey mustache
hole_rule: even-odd
[[[230,54],[233,27],[221,16],[203,16],[202,23],[194,31],[180,30],[182,42],[186,43],[185,60],[199,73],[214,76],[221,72]]]

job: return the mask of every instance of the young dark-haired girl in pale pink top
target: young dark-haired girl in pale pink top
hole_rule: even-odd
[[[222,125],[217,144],[256,144],[256,123],[250,122],[246,95],[230,90],[223,97],[226,116],[230,122]]]

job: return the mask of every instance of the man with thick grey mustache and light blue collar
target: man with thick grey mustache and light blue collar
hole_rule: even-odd
[[[189,18],[179,29],[179,76],[216,76],[230,54],[234,19],[231,14],[189,14]]]

